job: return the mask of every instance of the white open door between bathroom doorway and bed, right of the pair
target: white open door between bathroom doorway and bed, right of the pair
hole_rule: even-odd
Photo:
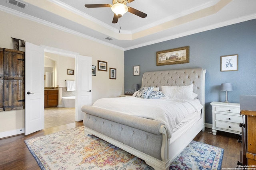
[[[92,57],[76,56],[76,121],[84,119],[81,107],[92,105]]]

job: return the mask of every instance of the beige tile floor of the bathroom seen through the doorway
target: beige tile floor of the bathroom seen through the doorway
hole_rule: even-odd
[[[44,109],[44,129],[75,122],[75,108],[52,107]]]

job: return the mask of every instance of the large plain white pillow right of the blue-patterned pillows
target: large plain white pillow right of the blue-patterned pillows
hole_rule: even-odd
[[[193,84],[188,86],[162,86],[162,92],[168,98],[193,99]]]

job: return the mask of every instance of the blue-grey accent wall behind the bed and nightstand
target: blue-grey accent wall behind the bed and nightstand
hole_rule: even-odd
[[[167,35],[168,36],[168,35]],[[190,62],[156,66],[156,52],[190,46]],[[220,56],[238,55],[238,71],[220,71]],[[133,76],[133,66],[140,65],[140,75]],[[204,31],[124,52],[124,89],[132,91],[132,84],[141,85],[147,71],[183,68],[206,69],[206,123],[212,123],[213,101],[225,101],[220,84],[232,83],[228,101],[239,103],[240,95],[256,95],[256,20],[245,21],[218,29]]]

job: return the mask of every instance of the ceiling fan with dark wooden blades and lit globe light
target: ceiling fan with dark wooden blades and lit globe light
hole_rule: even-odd
[[[136,10],[130,6],[126,6],[127,3],[130,3],[134,0],[113,0],[112,4],[85,4],[86,8],[100,8],[100,7],[111,7],[111,10],[114,12],[114,18],[112,23],[117,23],[118,19],[121,18],[126,12],[130,12],[141,18],[145,18],[147,14]]]

